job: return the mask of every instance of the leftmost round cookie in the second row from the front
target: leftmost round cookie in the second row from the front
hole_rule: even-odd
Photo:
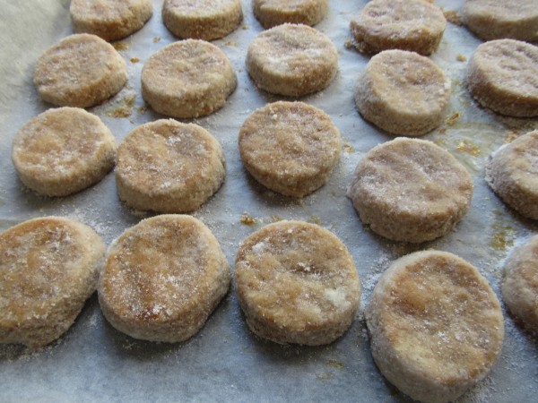
[[[112,133],[98,116],[78,107],[48,109],[13,139],[13,165],[22,183],[46,196],[66,196],[96,184],[115,159]]]

